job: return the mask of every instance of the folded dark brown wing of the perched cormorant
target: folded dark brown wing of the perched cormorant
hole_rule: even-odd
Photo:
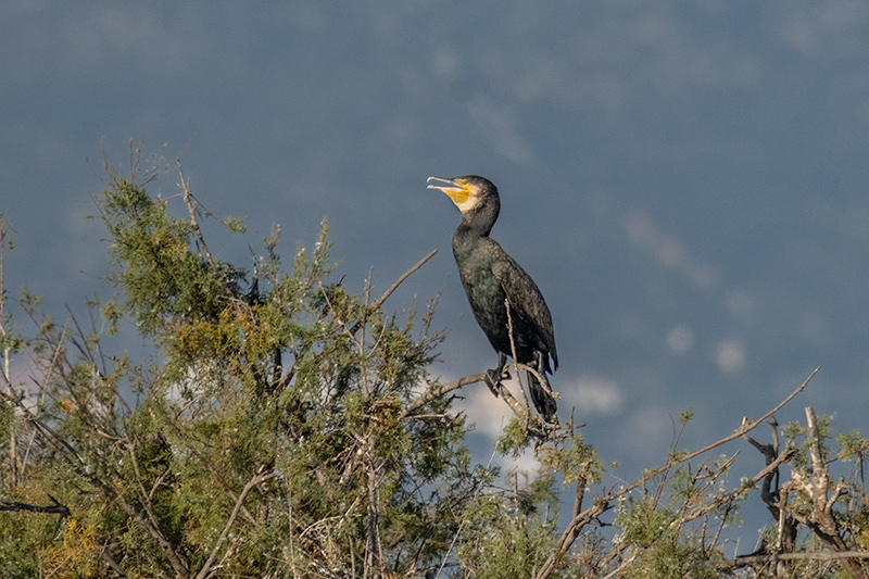
[[[534,328],[537,335],[546,344],[555,368],[558,368],[558,354],[555,350],[555,333],[552,328],[552,315],[543,294],[525,269],[507,253],[498,248],[499,259],[492,265],[492,273],[504,288],[511,306]]]

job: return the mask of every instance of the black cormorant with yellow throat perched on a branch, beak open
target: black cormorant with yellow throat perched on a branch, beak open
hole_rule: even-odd
[[[516,362],[536,368],[545,382],[540,383],[532,373],[527,373],[531,401],[546,423],[557,421],[557,406],[546,377],[553,370],[550,357],[554,369],[558,369],[552,315],[531,276],[489,237],[501,211],[498,188],[477,175],[428,180],[443,184],[428,188],[450,196],[462,212],[462,223],[453,234],[453,255],[474,317],[498,352],[498,368],[487,373],[490,388],[498,395],[507,356],[513,356],[509,322]]]

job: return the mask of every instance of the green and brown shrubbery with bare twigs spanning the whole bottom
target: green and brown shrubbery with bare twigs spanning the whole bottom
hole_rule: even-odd
[[[540,469],[476,465],[452,397],[484,375],[429,374],[445,337],[437,299],[386,309],[433,252],[382,295],[353,293],[332,280],[325,222],[289,268],[275,226],[247,270],[209,251],[201,221],[213,216],[180,162],[178,194],[154,198],[160,172],[130,153],[126,176],[105,164],[96,200],[116,295],[60,324],[25,291],[26,336],[0,275],[4,577],[866,577],[869,443],[809,410],[805,426],[772,423],[769,444],[751,438],[808,380],[721,440],[693,452],[677,441],[664,465],[608,488],[579,427],[544,429],[505,390],[516,417],[496,450],[533,446]],[[8,232],[0,219],[0,274]],[[140,361],[121,348],[134,332],[151,345]],[[29,382],[12,376],[15,356]],[[731,488],[735,456],[706,457],[740,438],[767,466]],[[721,530],[755,490],[773,525],[757,553],[728,558]]]

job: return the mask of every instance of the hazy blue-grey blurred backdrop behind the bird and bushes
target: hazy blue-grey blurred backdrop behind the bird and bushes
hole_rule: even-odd
[[[289,254],[327,216],[337,275],[377,292],[437,249],[387,305],[440,295],[432,374],[477,374],[496,356],[453,263],[458,212],[426,178],[479,174],[492,237],[552,311],[561,415],[612,477],[660,463],[680,413],[680,445],[704,445],[817,366],[779,421],[811,405],[869,430],[869,4],[12,0],[0,53],[13,295],[63,315],[104,294],[87,217],[134,139],[244,217],[207,231],[224,260],[248,266],[274,223]],[[486,442],[503,405],[483,387],[464,404]]]

